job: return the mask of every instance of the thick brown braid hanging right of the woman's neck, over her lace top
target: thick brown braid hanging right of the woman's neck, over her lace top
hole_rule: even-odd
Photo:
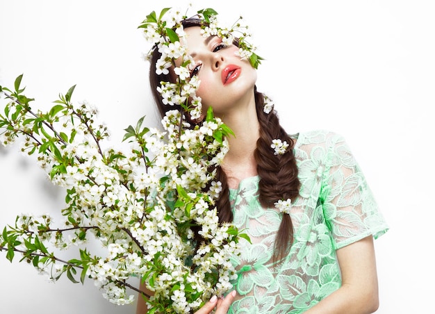
[[[279,199],[293,200],[299,194],[297,166],[292,149],[295,142],[279,124],[279,118],[274,110],[268,114],[263,112],[263,94],[255,91],[255,97],[260,122],[260,137],[254,151],[258,176],[261,178],[258,183],[259,200],[263,206],[270,207]],[[287,149],[285,154],[275,155],[270,147],[274,139],[285,140],[290,149]],[[274,245],[274,261],[284,258],[292,243],[293,223],[290,215],[283,214]]]

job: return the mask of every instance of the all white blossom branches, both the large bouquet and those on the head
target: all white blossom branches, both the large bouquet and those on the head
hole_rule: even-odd
[[[239,29],[217,27],[212,9],[198,15],[209,22],[204,35],[232,41]],[[215,206],[222,190],[215,169],[228,151],[231,130],[211,108],[202,124],[186,120],[187,114],[202,115],[202,106],[195,94],[199,81],[186,72],[192,60],[180,40],[183,18],[164,9],[140,26],[161,53],[157,72],[167,73],[175,59],[183,60],[174,67],[177,80],[161,82],[158,90],[165,104],[181,110],[169,110],[161,129],[142,126],[143,118],[129,126],[124,136],[129,149],[104,148],[108,129],[96,108],[72,104],[75,86],[60,94],[47,113],[32,110],[33,99],[20,87],[22,76],[15,89],[0,86],[8,99],[0,114],[1,142],[23,138],[22,150],[36,154],[49,179],[66,190],[60,226],[48,215],[19,215],[15,226],[3,229],[0,251],[10,261],[23,254],[23,260],[55,281],[63,274],[74,282],[93,279],[115,304],[133,301],[130,288],[147,298],[154,313],[188,313],[232,287],[236,271],[230,256],[239,254],[238,240],[247,236],[233,224],[220,223]],[[245,37],[240,37],[240,57],[258,65],[261,58]],[[88,249],[68,261],[56,255],[90,239],[106,248],[104,256]],[[131,276],[140,276],[153,295],[130,286]]]

